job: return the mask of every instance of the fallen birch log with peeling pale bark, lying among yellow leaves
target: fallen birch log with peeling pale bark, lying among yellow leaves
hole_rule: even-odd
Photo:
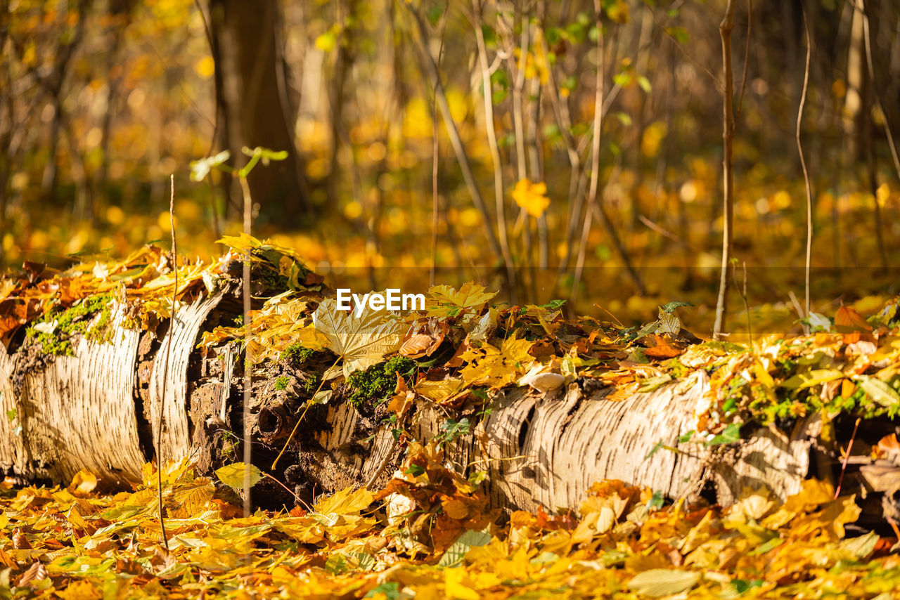
[[[139,481],[143,462],[156,454],[166,369],[166,459],[193,454],[205,472],[238,461],[243,356],[233,342],[197,348],[203,331],[239,314],[238,290],[235,285],[185,302],[174,327],[163,321],[147,331],[121,327],[119,307],[113,310],[110,341],[82,338],[73,343],[73,356],[41,354],[32,343],[11,355],[0,352],[0,408],[7,416],[0,419],[0,468],[19,481],[67,483],[85,468],[106,488]],[[255,372],[253,462],[304,499],[373,478],[383,485],[401,462],[391,426],[383,422],[384,404],[355,407],[338,388],[329,404],[310,407],[278,469],[271,469],[305,407],[303,392],[275,390],[275,380],[290,374],[302,381],[332,362],[324,356],[302,365],[309,372],[284,364]],[[491,398],[491,410],[480,414],[448,413],[419,399],[409,430],[428,440],[448,414],[468,417],[471,433],[448,444],[447,459],[459,472],[486,471],[492,504],[507,509],[577,506],[600,479],[650,486],[669,497],[698,497],[707,488],[723,504],[745,486],[765,483],[784,498],[800,489],[810,470],[817,417],[798,424],[791,436],[761,429],[727,452],[681,444],[693,451],[660,450],[647,458],[658,443],[676,446],[681,434],[696,429],[695,414],[708,399],[704,372],[625,401],[609,401],[610,391],[590,378],[546,394],[501,390]],[[293,504],[271,479],[257,484],[254,500],[263,506]]]

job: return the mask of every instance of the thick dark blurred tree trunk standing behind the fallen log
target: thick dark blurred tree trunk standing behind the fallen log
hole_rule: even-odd
[[[278,3],[211,0],[210,15],[219,55],[218,102],[233,160],[236,166],[243,166],[246,157],[241,148],[245,146],[286,150],[287,160],[254,169],[248,180],[253,200],[265,213],[280,222],[297,224],[310,204],[294,146],[294,112],[277,41],[282,26]]]

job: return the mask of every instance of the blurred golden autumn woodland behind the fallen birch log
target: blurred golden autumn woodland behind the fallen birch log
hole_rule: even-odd
[[[179,249],[217,254],[240,192],[220,173],[193,183],[190,163],[264,146],[290,157],[251,174],[254,233],[330,282],[476,280],[632,321],[689,300],[685,322],[709,328],[725,0],[4,4],[4,267],[167,247],[170,174]],[[813,309],[870,312],[896,294],[900,6],[741,1],[731,330],[747,320],[743,265],[754,330],[797,327],[805,19]]]

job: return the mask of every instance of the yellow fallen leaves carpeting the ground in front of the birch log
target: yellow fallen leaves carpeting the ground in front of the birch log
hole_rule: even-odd
[[[781,506],[748,490],[725,510],[662,506],[649,489],[604,481],[567,514],[497,524],[441,459],[414,445],[407,466],[420,474],[387,490],[248,517],[186,461],[170,463],[168,551],[150,465],[143,485],[112,496],[92,494],[89,473],[68,488],[5,486],[0,595],[887,599],[900,587],[896,539],[846,537],[854,498],[812,479]],[[410,501],[419,510],[399,515]]]

